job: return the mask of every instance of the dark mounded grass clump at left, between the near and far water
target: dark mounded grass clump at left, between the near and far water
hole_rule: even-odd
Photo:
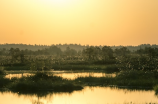
[[[9,88],[18,92],[38,92],[40,90],[73,91],[81,90],[82,86],[74,85],[62,77],[38,72],[34,76],[22,77],[14,81]]]

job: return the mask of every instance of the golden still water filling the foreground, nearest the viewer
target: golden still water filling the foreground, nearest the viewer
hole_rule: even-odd
[[[85,87],[72,93],[45,95],[0,92],[0,104],[158,104],[153,90]]]

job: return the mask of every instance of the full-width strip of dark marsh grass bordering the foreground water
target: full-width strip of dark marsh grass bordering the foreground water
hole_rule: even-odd
[[[117,86],[126,88],[153,88],[158,84],[158,72],[128,70],[121,71],[115,77],[94,77],[93,74],[83,77],[78,76],[74,80],[64,79],[53,74],[37,72],[33,76],[6,79],[0,77],[0,87],[9,88],[17,92],[71,92],[81,90],[82,86]],[[156,87],[154,87],[157,91]]]

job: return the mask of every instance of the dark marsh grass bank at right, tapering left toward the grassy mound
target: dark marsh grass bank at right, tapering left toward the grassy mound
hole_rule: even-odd
[[[78,77],[76,82],[86,85],[126,86],[152,88],[158,84],[157,71],[122,71],[116,77]]]

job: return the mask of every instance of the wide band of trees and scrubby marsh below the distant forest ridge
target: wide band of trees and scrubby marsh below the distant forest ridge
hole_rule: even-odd
[[[158,48],[145,47],[130,51],[128,47],[88,46],[83,50],[52,45],[36,51],[19,48],[1,49],[0,66],[25,65],[30,69],[51,69],[58,65],[115,65],[118,70],[158,69]]]

